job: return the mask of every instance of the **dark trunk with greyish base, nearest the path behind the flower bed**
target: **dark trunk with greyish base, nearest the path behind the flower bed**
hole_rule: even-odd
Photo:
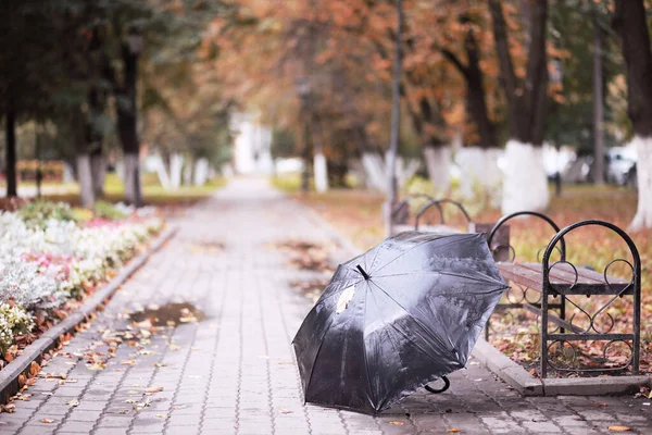
[[[137,132],[136,80],[138,77],[138,54],[123,45],[124,88],[116,103],[117,133],[125,156],[125,201],[136,207],[142,206],[140,186],[140,144]]]

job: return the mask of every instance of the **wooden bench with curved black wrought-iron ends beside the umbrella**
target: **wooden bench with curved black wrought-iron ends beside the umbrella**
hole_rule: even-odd
[[[498,269],[505,281],[518,286],[525,287],[524,297],[518,302],[513,303],[500,303],[497,307],[497,311],[504,311],[505,309],[512,308],[525,308],[531,312],[535,312],[541,318],[540,325],[540,375],[547,377],[549,365],[557,371],[616,371],[624,370],[631,366],[632,374],[637,374],[639,371],[639,348],[640,348],[640,293],[641,293],[641,264],[640,257],[636,245],[631,238],[616,225],[603,221],[581,221],[575,224],[568,225],[563,229],[560,229],[557,225],[550,220],[550,217],[536,212],[518,212],[502,217],[496,226],[491,229],[488,236],[488,243],[492,246],[493,238],[498,233],[499,228],[505,224],[505,222],[523,215],[536,216],[548,222],[554,232],[556,233],[552,240],[546,247],[543,258],[540,263],[517,263],[513,262],[514,257],[509,261],[498,261]],[[566,261],[566,246],[564,236],[569,232],[588,225],[598,225],[606,227],[615,232],[620,238],[627,244],[634,262],[630,263],[624,259],[617,259],[609,263],[603,273],[595,272],[587,268],[578,268]],[[559,247],[557,247],[559,245]],[[504,247],[503,247],[504,248]],[[513,252],[513,248],[507,247]],[[550,257],[552,253],[559,250],[560,261],[551,264]],[[631,268],[632,277],[631,279],[623,279],[607,275],[610,266],[617,261],[623,261]],[[538,301],[530,301],[526,297],[528,289],[540,294]],[[611,296],[609,301],[600,307],[592,315],[575,302],[568,299],[569,296]],[[595,319],[598,315],[605,312],[611,303],[618,297],[630,296],[634,298],[634,313],[631,319],[631,333],[620,334],[612,333],[614,326],[613,318],[612,325],[609,331],[600,331],[595,326]],[[552,300],[550,299],[552,298]],[[588,327],[580,327],[573,323],[573,319],[566,318],[567,306],[572,304],[584,311],[589,321]],[[559,315],[551,313],[550,310],[557,309]],[[549,322],[556,324],[560,330],[559,333],[550,333],[548,330]],[[485,328],[485,336],[489,336],[489,323]],[[618,365],[616,368],[600,368],[600,369],[577,369],[577,368],[559,368],[551,363],[549,359],[549,350],[555,343],[561,345],[568,344],[577,340],[605,340],[609,343],[624,341],[631,349],[631,358],[625,365]],[[631,345],[629,345],[629,341]],[[550,345],[549,345],[550,344]],[[573,348],[575,349],[575,348]]]

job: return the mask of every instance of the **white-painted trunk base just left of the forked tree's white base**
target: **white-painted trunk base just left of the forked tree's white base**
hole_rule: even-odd
[[[500,206],[502,173],[498,167],[499,154],[497,148],[466,147],[457,150],[455,162],[461,171],[460,194],[464,198],[486,195],[492,206]]]

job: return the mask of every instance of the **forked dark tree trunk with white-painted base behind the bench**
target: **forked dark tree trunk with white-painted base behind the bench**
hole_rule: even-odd
[[[528,3],[528,57],[525,80],[518,80],[509,49],[507,26],[499,0],[489,0],[493,39],[509,110],[502,212],[542,210],[548,206],[548,177],[541,145],[548,117],[546,33],[548,1]]]

